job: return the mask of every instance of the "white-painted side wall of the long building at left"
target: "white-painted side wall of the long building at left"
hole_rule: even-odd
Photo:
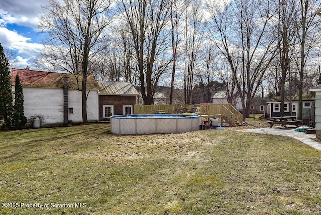
[[[27,127],[32,127],[36,116],[41,119],[41,127],[62,126],[64,123],[63,88],[23,87],[24,113]],[[68,114],[68,120],[82,122],[81,91],[68,90],[68,107],[74,114]],[[88,121],[98,120],[98,93],[90,91],[87,99]]]

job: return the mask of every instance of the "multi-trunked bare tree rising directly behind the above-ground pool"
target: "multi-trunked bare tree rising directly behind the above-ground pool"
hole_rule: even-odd
[[[169,21],[169,1],[122,0],[119,10],[130,27],[142,98],[145,104],[152,104],[159,79],[169,63],[162,61],[169,36],[165,31]]]

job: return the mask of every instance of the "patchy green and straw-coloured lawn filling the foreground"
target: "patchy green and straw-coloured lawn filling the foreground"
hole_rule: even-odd
[[[289,137],[92,124],[2,131],[0,151],[0,214],[321,213],[321,151]]]

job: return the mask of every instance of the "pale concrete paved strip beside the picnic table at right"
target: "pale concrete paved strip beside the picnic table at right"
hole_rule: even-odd
[[[304,132],[297,132],[295,129],[296,128],[293,127],[284,128],[278,126],[274,128],[240,129],[237,131],[293,137],[317,150],[321,150],[321,144],[312,140],[313,138],[316,138],[315,134],[305,134]]]

